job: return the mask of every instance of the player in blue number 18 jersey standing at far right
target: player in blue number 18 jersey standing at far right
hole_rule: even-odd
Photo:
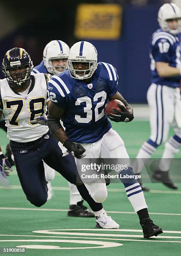
[[[158,11],[160,29],[153,33],[150,45],[151,86],[147,92],[150,108],[150,138],[143,143],[133,164],[135,174],[168,138],[169,127],[175,134],[165,143],[158,169],[153,178],[167,187],[177,189],[168,176],[171,160],[181,147],[181,10],[173,3],[166,3]],[[139,159],[141,159],[139,161]],[[142,161],[143,159],[143,161]],[[149,189],[145,188],[147,191]]]

